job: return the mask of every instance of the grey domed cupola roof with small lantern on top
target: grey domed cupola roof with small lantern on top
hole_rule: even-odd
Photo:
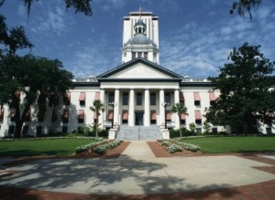
[[[145,35],[146,24],[143,23],[140,18],[134,25],[135,35],[128,40],[127,44],[131,45],[149,45],[153,44],[153,41]]]

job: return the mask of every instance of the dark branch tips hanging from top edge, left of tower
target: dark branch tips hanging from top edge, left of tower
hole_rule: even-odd
[[[27,7],[28,16],[30,16],[30,8],[35,0],[22,0]],[[36,0],[39,1],[39,0]],[[66,9],[74,8],[74,12],[83,12],[86,16],[91,16],[91,0],[63,0],[65,1]],[[5,0],[0,0],[0,6],[3,5]]]

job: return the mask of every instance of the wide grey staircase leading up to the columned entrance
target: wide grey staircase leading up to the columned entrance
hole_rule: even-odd
[[[150,127],[121,125],[120,130],[116,136],[118,140],[161,140],[162,134],[159,132],[157,125]]]

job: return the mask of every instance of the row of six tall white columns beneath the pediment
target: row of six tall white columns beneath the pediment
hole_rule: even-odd
[[[100,90],[100,101],[104,102],[104,89]],[[179,103],[179,89],[174,90],[174,101]],[[114,97],[114,109],[113,109],[113,122],[120,122],[120,89],[115,88],[115,97]],[[159,124],[165,122],[165,108],[164,108],[164,89],[159,89]],[[179,127],[179,118],[175,118],[175,126]],[[103,125],[104,114],[99,118],[99,123]],[[135,90],[130,89],[129,92],[129,114],[128,114],[128,124],[129,126],[135,125]],[[149,126],[151,124],[151,110],[150,110],[150,90],[144,90],[144,126]]]

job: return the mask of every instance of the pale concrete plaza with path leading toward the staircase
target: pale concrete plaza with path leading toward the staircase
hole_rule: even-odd
[[[233,155],[155,158],[146,142],[131,142],[118,159],[45,159],[9,170],[0,185],[82,194],[142,195],[230,188],[266,182],[272,166]]]

